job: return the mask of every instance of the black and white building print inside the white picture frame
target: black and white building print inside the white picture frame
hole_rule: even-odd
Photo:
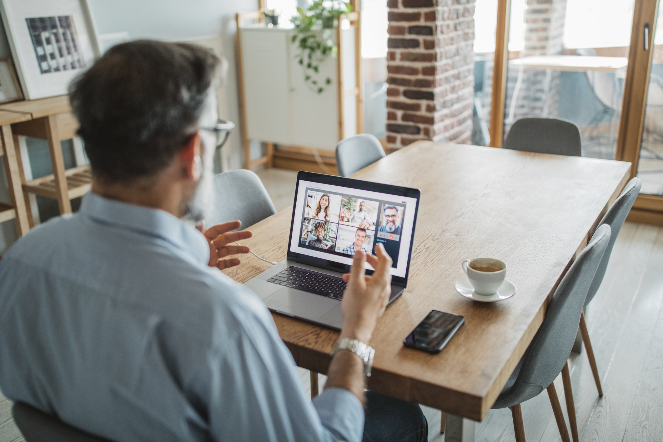
[[[25,19],[25,23],[42,74],[85,68],[74,17],[34,17]]]

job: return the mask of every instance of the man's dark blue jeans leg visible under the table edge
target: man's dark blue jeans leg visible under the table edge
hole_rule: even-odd
[[[367,391],[363,442],[426,442],[428,421],[419,404]]]

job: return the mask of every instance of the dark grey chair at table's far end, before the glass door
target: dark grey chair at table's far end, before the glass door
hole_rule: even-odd
[[[504,148],[581,156],[580,130],[572,121],[554,117],[523,117],[509,129]]]

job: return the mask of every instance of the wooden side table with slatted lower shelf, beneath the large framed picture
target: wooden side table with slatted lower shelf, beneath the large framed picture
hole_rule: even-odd
[[[72,114],[68,95],[59,95],[30,101],[16,101],[0,105],[0,110],[24,113],[29,121],[13,125],[14,137],[41,138],[48,142],[53,174],[23,182],[24,192],[35,193],[58,201],[60,214],[72,213],[71,199],[80,197],[91,188],[90,166],[82,165],[68,170],[60,141],[76,137],[78,121]],[[28,205],[29,210],[29,205]],[[30,217],[31,219],[31,217]]]

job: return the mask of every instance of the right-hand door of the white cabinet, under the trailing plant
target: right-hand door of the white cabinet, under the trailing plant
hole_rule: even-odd
[[[304,70],[298,63],[298,48],[289,40],[288,50],[292,143],[333,149],[339,141],[336,59],[328,57],[320,64],[319,78],[324,81],[329,77],[331,84],[322,93],[317,93],[304,81]]]

